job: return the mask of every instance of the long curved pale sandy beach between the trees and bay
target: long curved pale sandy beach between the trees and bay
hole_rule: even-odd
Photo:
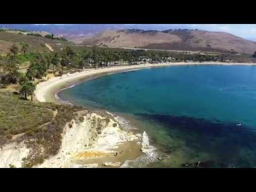
[[[227,65],[227,66],[256,66],[256,63],[225,63],[225,62],[174,62],[174,63],[159,63],[150,64],[145,63],[134,66],[118,66],[109,68],[87,69],[74,74],[65,74],[61,77],[53,77],[49,81],[39,83],[36,86],[35,99],[39,102],[54,102],[58,104],[66,103],[57,98],[55,95],[60,91],[68,89],[69,87],[76,86],[84,81],[97,78],[104,75],[111,75],[115,73],[121,73],[130,70],[139,70],[145,68],[155,67],[169,67],[169,66],[186,66],[186,65]]]

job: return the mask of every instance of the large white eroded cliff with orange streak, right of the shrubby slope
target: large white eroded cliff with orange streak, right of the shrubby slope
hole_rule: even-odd
[[[134,134],[121,130],[114,119],[95,113],[88,113],[83,121],[80,118],[70,123],[64,129],[59,153],[36,167],[84,167],[89,159],[111,156],[120,142],[139,140]],[[107,165],[121,166],[108,162]]]

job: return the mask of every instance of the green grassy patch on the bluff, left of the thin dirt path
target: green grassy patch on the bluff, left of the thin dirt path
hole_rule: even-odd
[[[1,93],[0,100],[0,135],[5,139],[10,139],[11,134],[28,132],[53,118],[53,111],[47,106]]]

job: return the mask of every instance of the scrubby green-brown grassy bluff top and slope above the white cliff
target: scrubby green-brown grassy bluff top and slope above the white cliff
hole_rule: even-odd
[[[63,128],[71,119],[79,119],[77,111],[84,110],[76,106],[24,101],[12,93],[0,93],[0,100],[0,146],[12,142],[14,134],[25,133],[16,139],[25,141],[32,149],[23,161],[24,167],[43,163],[45,158],[57,154]]]

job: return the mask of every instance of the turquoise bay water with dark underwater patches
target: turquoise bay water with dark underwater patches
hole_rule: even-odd
[[[135,126],[170,156],[151,167],[256,165],[254,66],[141,69],[83,82],[59,97],[136,118]]]

